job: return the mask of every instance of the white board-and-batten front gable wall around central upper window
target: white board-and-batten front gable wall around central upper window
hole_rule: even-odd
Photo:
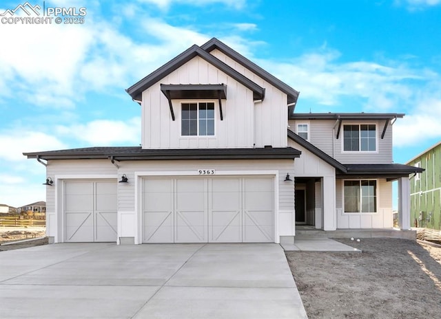
[[[215,135],[181,136],[181,102],[194,100],[172,100],[173,121],[161,84],[220,83],[227,85],[227,99],[222,100],[223,120],[218,101],[212,100]],[[253,92],[202,58],[193,58],[143,91],[142,105],[143,148],[250,148],[254,144]]]

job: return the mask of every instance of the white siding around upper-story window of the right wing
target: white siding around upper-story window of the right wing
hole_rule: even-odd
[[[296,121],[290,120],[291,131],[296,132]],[[344,120],[340,129],[340,136],[336,139],[338,123],[335,120],[309,120],[309,142],[320,148],[327,155],[334,157],[342,164],[391,164],[392,163],[392,125],[389,123],[384,138],[381,139],[385,121],[362,120],[353,122]],[[376,124],[377,127],[377,151],[376,152],[344,152],[343,125],[345,124]],[[335,129],[334,129],[335,125]]]

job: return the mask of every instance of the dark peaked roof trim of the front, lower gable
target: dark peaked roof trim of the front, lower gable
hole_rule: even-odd
[[[130,94],[130,96],[132,96],[134,100],[141,100],[141,94],[143,93],[143,91],[145,91],[188,61],[192,60],[192,58],[194,58],[195,56],[200,56],[208,63],[211,63],[225,74],[234,78],[234,80],[238,81],[238,83],[241,83],[248,89],[252,90],[254,100],[263,100],[263,98],[265,98],[265,89],[263,87],[260,87],[252,80],[250,80],[246,76],[243,76],[229,65],[226,65],[215,56],[212,56],[212,54],[205,52],[201,49],[201,47],[198,47],[197,45],[189,47],[189,49],[176,56],[176,58],[173,58],[171,61],[165,63],[165,65],[159,67],[158,69],[156,69],[156,71],[152,72],[125,91],[127,91],[127,93]]]

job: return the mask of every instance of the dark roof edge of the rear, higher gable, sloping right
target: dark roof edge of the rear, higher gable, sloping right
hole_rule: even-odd
[[[300,92],[296,91],[286,83],[283,83],[272,74],[269,74],[267,71],[265,71],[252,61],[249,61],[247,58],[245,58],[245,56],[238,54],[238,52],[234,51],[231,47],[225,45],[225,43],[220,42],[218,39],[211,39],[207,43],[201,45],[201,48],[206,52],[212,52],[215,49],[223,52],[223,54],[227,55],[229,58],[232,58],[237,63],[240,63],[240,65],[243,65],[247,69],[251,70],[254,74],[260,76],[260,78],[263,78],[263,80],[267,81],[271,85],[274,85],[274,87],[277,87],[278,89],[280,89],[280,91],[283,91],[285,94],[287,94],[288,104],[297,102],[297,98]]]

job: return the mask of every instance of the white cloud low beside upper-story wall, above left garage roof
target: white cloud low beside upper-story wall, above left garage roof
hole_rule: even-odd
[[[120,120],[94,120],[86,124],[57,126],[57,135],[74,137],[94,146],[141,143],[141,118]]]

